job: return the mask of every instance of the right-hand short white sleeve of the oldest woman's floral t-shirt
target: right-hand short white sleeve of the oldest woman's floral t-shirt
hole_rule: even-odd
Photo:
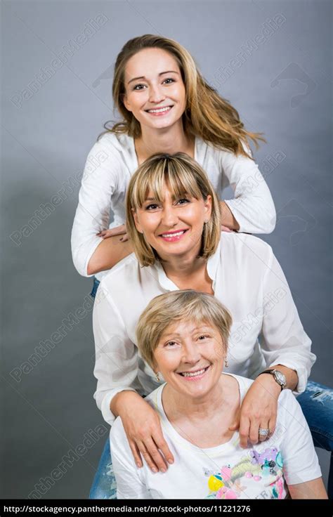
[[[320,478],[322,472],[311,431],[292,391],[282,391],[278,402],[278,414],[282,421],[282,469],[287,485],[297,485]],[[275,433],[277,431],[278,429]]]

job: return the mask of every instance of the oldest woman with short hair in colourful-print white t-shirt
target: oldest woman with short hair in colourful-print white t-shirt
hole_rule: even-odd
[[[165,384],[145,402],[159,414],[176,461],[166,473],[138,469],[122,420],[110,432],[117,499],[327,499],[301,407],[278,395],[273,436],[240,447],[229,426],[254,381],[223,372],[232,318],[211,294],[173,291],[152,299],[136,327],[145,362]]]

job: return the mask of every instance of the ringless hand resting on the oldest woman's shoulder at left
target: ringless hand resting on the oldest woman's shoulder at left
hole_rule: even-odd
[[[122,393],[126,393],[126,403],[124,400],[122,404],[117,403],[120,408],[119,417],[122,419],[136,466],[143,466],[142,456],[152,472],[166,472],[168,463],[174,463],[174,456],[164,440],[157,412],[137,393]]]

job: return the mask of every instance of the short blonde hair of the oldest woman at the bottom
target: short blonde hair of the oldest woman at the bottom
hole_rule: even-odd
[[[169,325],[179,321],[206,323],[218,330],[223,355],[228,350],[228,339],[233,319],[228,309],[213,294],[183,289],[160,294],[148,303],[136,325],[136,343],[141,356],[155,369],[154,352]]]

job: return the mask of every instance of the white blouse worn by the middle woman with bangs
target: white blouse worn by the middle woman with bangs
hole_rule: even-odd
[[[294,395],[302,393],[316,357],[269,244],[253,235],[222,232],[207,273],[214,295],[233,317],[225,371],[255,379],[266,367],[284,365],[298,374]],[[109,424],[115,419],[110,401],[116,393],[132,389],[148,395],[159,386],[138,353],[135,329],[148,303],[174,290],[178,287],[161,263],[141,267],[134,254],[100,282],[93,308],[98,381],[93,396]]]

